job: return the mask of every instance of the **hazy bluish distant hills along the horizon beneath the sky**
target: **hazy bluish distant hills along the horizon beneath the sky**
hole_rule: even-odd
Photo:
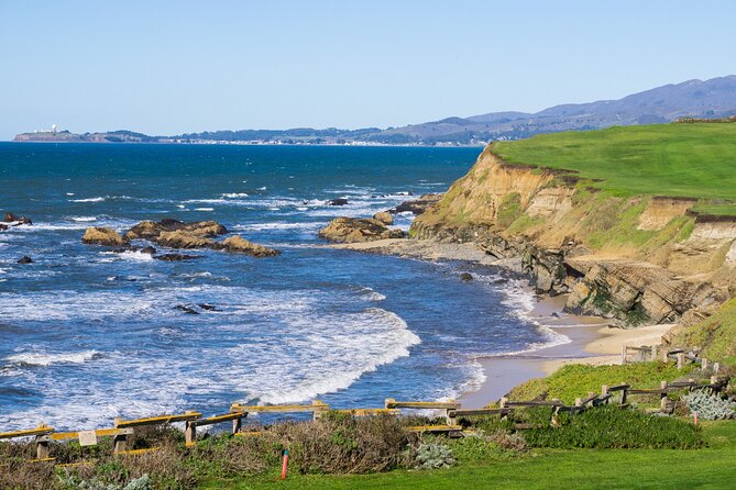
[[[678,118],[728,118],[736,114],[736,75],[710,80],[670,83],[618,100],[554,105],[535,113],[491,112],[470,118],[403,127],[339,130],[241,130],[147,136],[131,131],[74,134],[23,133],[15,141],[48,142],[150,142],[150,143],[281,143],[281,144],[389,144],[482,145],[488,141],[519,140],[538,133],[596,130],[613,125],[653,124]]]

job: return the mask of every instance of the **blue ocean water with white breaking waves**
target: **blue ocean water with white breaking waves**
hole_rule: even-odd
[[[553,342],[496,271],[325,247],[338,215],[444,191],[477,148],[0,144],[0,430],[234,401],[381,407],[457,397],[473,358]],[[347,198],[344,207],[326,201]],[[279,248],[164,263],[80,243],[87,226],[217,220]],[[397,225],[408,227],[410,215]],[[17,260],[29,255],[33,264]],[[216,311],[199,309],[208,303]],[[176,305],[194,305],[187,314]]]

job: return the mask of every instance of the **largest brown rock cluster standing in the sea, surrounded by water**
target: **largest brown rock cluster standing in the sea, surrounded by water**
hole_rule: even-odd
[[[153,247],[138,248],[130,245],[133,240],[147,240],[168,248],[211,248],[216,250],[238,252],[254,257],[270,257],[278,255],[279,252],[262,245],[253,244],[238,235],[231,236],[223,242],[213,238],[228,233],[228,230],[217,221],[197,221],[185,223],[178,220],[165,219],[158,222],[142,221],[131,227],[123,235],[109,227],[89,227],[81,241],[86,244],[107,245],[124,247],[119,252],[140,250],[142,253],[155,254]],[[198,258],[196,255],[164,254],[155,256],[160,260],[188,260]]]

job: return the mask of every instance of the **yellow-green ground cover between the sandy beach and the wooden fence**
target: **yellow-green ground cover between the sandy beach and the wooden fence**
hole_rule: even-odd
[[[601,392],[603,385],[627,382],[634,388],[656,388],[660,381],[673,381],[688,377],[692,366],[678,370],[673,363],[636,363],[613,366],[585,366],[571,364],[547,378],[530,379],[509,393],[509,400],[534,400],[537,398],[559,398],[573,403],[575,398],[584,398],[587,392]],[[636,400],[633,400],[636,401]]]

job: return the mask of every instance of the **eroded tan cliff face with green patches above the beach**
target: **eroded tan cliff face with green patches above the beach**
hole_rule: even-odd
[[[509,165],[487,147],[411,236],[474,242],[568,309],[620,325],[691,323],[736,293],[736,220],[692,199],[620,197],[572,172]]]

